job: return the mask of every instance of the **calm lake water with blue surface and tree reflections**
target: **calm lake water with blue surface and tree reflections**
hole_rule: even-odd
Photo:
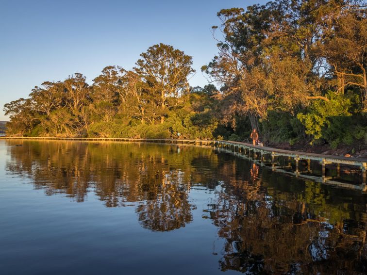
[[[0,140],[0,274],[364,274],[366,199],[211,148]]]

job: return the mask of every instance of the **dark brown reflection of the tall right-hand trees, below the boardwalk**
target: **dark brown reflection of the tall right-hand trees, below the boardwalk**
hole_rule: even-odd
[[[276,274],[366,272],[366,215],[363,221],[350,225],[346,219],[350,213],[339,205],[318,204],[310,199],[322,192],[313,182],[307,182],[314,187],[311,194],[306,189],[303,194],[269,195],[270,186],[258,178],[259,168],[255,166],[251,165],[248,180],[227,177],[229,185],[217,189],[215,200],[208,205],[209,216],[219,227],[218,235],[226,240],[221,270]],[[349,202],[347,208],[351,206]],[[340,219],[331,224],[334,217],[322,214],[333,211],[338,211]]]

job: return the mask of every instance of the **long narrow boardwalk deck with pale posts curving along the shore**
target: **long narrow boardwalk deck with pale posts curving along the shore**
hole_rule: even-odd
[[[283,150],[271,147],[253,146],[252,144],[235,142],[235,141],[218,141],[218,140],[188,140],[188,139],[133,139],[133,138],[64,138],[64,137],[0,137],[0,139],[22,139],[22,140],[71,140],[71,141],[114,141],[114,142],[138,142],[138,143],[165,143],[165,144],[185,144],[185,145],[200,145],[200,146],[215,146],[223,149],[230,149],[235,151],[237,148],[238,153],[242,153],[244,156],[249,156],[252,161],[264,164],[268,159],[268,163],[271,163],[271,168],[274,171],[281,171],[284,173],[292,173],[296,177],[313,178],[313,176],[302,175],[299,172],[299,161],[304,160],[307,162],[308,168],[311,161],[317,161],[321,164],[321,180],[322,182],[330,181],[330,178],[326,177],[326,165],[336,164],[337,173],[340,174],[340,164],[358,166],[361,169],[362,185],[360,188],[366,191],[366,170],[367,159],[347,158],[343,156],[331,156],[316,153],[306,153],[291,150]],[[253,156],[253,158],[251,157]],[[260,159],[258,158],[260,156]],[[276,166],[276,157],[288,157],[289,160],[293,159],[295,162],[295,172],[289,172],[281,167]]]

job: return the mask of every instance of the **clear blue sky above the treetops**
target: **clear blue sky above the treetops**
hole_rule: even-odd
[[[139,54],[165,43],[193,57],[192,86],[217,53],[211,26],[222,8],[264,0],[0,0],[0,120],[2,106],[28,97],[43,81],[75,72],[87,81],[107,65],[131,69]]]

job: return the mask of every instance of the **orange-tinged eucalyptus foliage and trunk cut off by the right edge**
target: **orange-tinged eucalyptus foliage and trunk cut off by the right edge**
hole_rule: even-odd
[[[330,16],[320,41],[320,55],[332,66],[337,77],[337,92],[345,87],[359,87],[367,110],[367,4],[346,1],[340,12]]]

